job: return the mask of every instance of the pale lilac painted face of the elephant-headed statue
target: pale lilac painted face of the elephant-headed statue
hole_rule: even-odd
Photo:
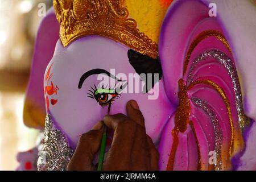
[[[53,122],[64,131],[73,148],[76,147],[79,136],[89,131],[107,114],[110,102],[110,114],[126,114],[126,103],[129,100],[138,102],[145,118],[147,134],[157,142],[160,131],[173,113],[174,107],[164,93],[161,80],[149,93],[134,93],[138,84],[131,88],[133,84],[129,73],[134,75],[136,72],[129,63],[128,50],[128,47],[100,36],[81,38],[67,48],[64,48],[60,41],[57,42],[55,54],[44,76],[46,107]],[[112,81],[102,84],[102,80],[98,80],[99,73],[111,72],[111,69],[114,69],[115,73],[112,70],[112,75],[116,78],[105,76]],[[127,83],[127,86],[123,83]],[[140,79],[138,83],[138,90],[141,90],[144,82]],[[123,92],[127,90],[129,93],[121,93],[118,98],[117,94],[106,92],[109,88],[120,88],[122,84]],[[156,99],[150,100],[149,96],[155,96]]]

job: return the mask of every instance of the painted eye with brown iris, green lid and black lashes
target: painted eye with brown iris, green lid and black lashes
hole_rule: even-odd
[[[115,98],[119,97],[114,89],[95,88],[93,91],[89,90],[89,92],[88,97],[94,98],[101,106],[109,105]]]

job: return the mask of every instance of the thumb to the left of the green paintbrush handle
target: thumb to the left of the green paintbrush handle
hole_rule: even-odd
[[[88,133],[82,134],[75,153],[68,163],[68,171],[92,171],[93,158],[100,149],[104,131],[102,122],[98,122]]]

